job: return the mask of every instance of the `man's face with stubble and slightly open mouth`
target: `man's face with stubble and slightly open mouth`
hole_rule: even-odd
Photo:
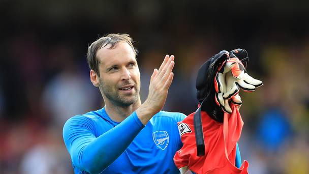
[[[140,72],[135,54],[126,42],[109,45],[97,52],[100,62],[99,88],[104,100],[117,106],[129,106],[139,101]]]

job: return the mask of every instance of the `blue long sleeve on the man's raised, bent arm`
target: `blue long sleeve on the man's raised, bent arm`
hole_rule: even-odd
[[[63,136],[73,164],[84,171],[98,173],[128,148],[143,127],[133,112],[120,124],[96,137],[95,123],[77,115],[66,122]]]

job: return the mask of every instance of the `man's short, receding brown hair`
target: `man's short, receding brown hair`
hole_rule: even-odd
[[[91,70],[94,70],[98,74],[99,77],[100,77],[100,72],[99,72],[100,61],[97,58],[97,51],[100,48],[105,47],[106,45],[110,45],[109,48],[113,49],[115,48],[116,43],[120,41],[124,41],[128,43],[133,49],[133,52],[136,57],[138,50],[133,46],[134,41],[130,37],[129,34],[108,34],[106,36],[99,38],[95,42],[92,42],[90,46],[88,47],[88,51],[87,51],[88,66]]]

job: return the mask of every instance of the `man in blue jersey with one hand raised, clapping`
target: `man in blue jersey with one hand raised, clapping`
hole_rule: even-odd
[[[136,49],[127,34],[109,34],[87,53],[90,80],[105,107],[76,115],[63,130],[75,173],[178,173],[173,156],[182,146],[177,122],[185,115],[160,111],[173,79],[174,56],[154,69],[141,104]]]

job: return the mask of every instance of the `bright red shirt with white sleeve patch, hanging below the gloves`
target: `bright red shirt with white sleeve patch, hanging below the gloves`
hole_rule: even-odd
[[[178,123],[181,128],[182,148],[175,153],[174,162],[178,168],[188,166],[195,173],[248,173],[249,163],[244,161],[240,168],[235,166],[236,142],[239,140],[243,121],[236,105],[231,104],[232,113],[224,113],[223,123],[211,119],[201,111],[204,156],[197,155],[194,113]]]

